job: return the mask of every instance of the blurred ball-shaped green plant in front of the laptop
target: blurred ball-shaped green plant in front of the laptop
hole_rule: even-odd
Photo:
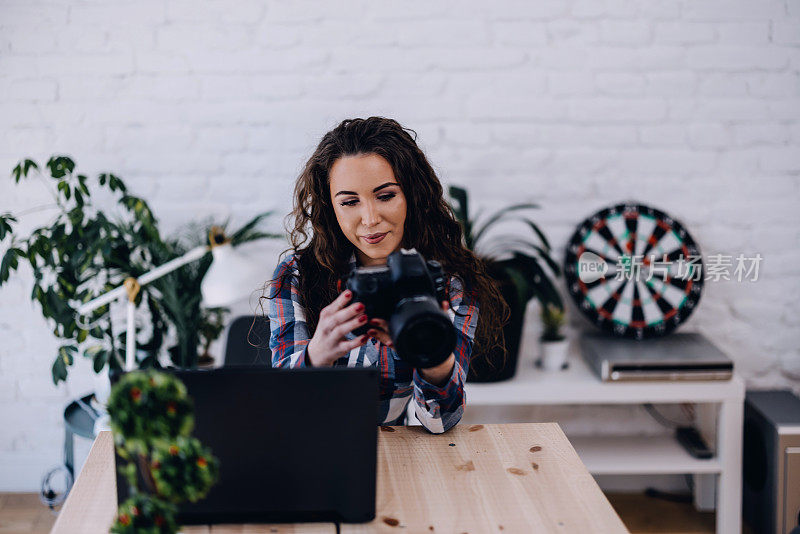
[[[186,387],[152,369],[127,373],[111,390],[108,413],[131,494],[111,532],[177,532],[175,505],[202,499],[219,478],[219,461],[189,435],[194,417]]]

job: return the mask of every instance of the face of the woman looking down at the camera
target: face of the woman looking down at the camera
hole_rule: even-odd
[[[392,166],[377,154],[345,156],[328,173],[336,220],[361,265],[382,265],[400,248],[406,197]]]

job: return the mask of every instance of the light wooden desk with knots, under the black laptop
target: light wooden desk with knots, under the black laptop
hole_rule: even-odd
[[[452,445],[451,445],[452,444]],[[107,532],[116,511],[109,433],[101,433],[53,533]],[[433,529],[431,530],[431,527]],[[330,524],[184,532],[334,532]],[[382,427],[376,519],[342,533],[627,532],[555,423],[458,425],[432,435]]]

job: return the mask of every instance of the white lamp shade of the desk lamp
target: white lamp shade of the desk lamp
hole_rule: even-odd
[[[261,266],[230,243],[212,248],[211,254],[214,260],[200,286],[203,304],[209,308],[229,306],[249,297],[266,280]]]

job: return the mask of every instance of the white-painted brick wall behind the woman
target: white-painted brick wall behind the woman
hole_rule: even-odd
[[[540,202],[559,247],[602,206],[651,203],[706,254],[762,254],[758,283],[708,284],[689,325],[750,384],[800,384],[797,0],[2,0],[0,95],[0,174],[70,154],[166,228],[286,212],[321,134],[376,114],[474,203]],[[43,198],[0,180],[0,211]],[[0,290],[0,490],[36,489],[92,388],[85,362],[49,383],[28,284]]]

